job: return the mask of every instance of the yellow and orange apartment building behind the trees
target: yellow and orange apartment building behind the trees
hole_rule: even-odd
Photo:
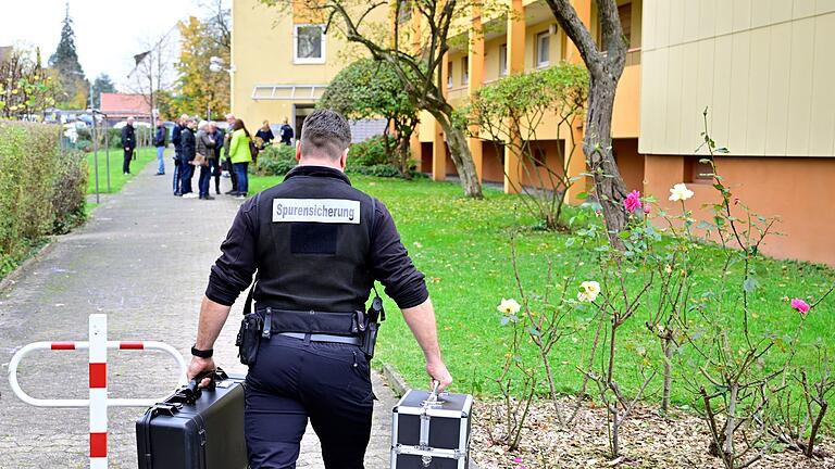
[[[456,41],[460,46],[449,52],[444,81],[453,104],[504,75],[560,61],[582,63],[543,0],[506,1],[515,14],[472,15],[471,26],[484,34]],[[316,25],[256,4],[233,2],[234,110],[245,118],[272,114],[298,121],[349,62],[337,55],[346,45],[322,36],[316,52]],[[573,4],[597,36],[595,1]],[[628,52],[612,137],[628,189],[653,194],[666,205],[669,188],[686,182],[696,192],[690,203],[696,216],[709,216],[699,207],[716,195],[710,180],[700,176],[706,172],[701,156],[695,155],[708,107],[711,136],[731,152],[716,159],[726,183],[753,212],[781,217],[776,229],[785,236],[769,239],[763,251],[835,265],[835,211],[828,210],[835,203],[835,1],[618,4]],[[302,46],[302,51],[313,52],[302,55],[313,56],[299,56],[303,41],[313,46]],[[564,167],[570,135],[582,140],[582,125],[558,132],[556,117],[546,118],[537,130],[536,164]],[[538,169],[524,168],[507,149],[483,138],[471,138],[470,148],[482,180],[502,183],[508,192],[536,183],[531,175]],[[456,175],[443,131],[428,115],[422,117],[412,152],[420,169],[434,179]],[[572,175],[585,170],[578,152],[579,147],[568,165]],[[579,190],[582,185],[575,192]]]

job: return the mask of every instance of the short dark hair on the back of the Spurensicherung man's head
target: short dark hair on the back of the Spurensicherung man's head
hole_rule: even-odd
[[[351,144],[351,127],[336,111],[315,110],[301,127],[301,155],[338,160]]]

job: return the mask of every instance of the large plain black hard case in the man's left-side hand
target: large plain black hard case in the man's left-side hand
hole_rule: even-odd
[[[139,469],[246,469],[244,380],[230,376],[189,403],[184,388],[136,422]]]

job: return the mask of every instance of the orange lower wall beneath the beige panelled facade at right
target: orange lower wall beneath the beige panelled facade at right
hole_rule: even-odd
[[[666,208],[670,188],[688,177],[694,156],[646,156],[645,190]],[[780,216],[762,251],[773,257],[835,266],[835,159],[721,157],[719,173],[734,197],[759,215]],[[709,182],[688,183],[696,194],[687,202],[699,219],[710,216],[702,204],[720,201]]]

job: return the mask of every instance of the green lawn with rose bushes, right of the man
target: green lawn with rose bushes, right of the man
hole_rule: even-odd
[[[256,192],[281,179],[253,177],[250,187]],[[514,227],[533,226],[534,219],[518,210],[516,197],[491,189],[485,189],[486,200],[471,201],[464,199],[461,188],[453,183],[362,176],[351,179],[359,189],[385,202],[397,221],[403,244],[426,275],[445,358],[456,379],[454,389],[495,394],[497,389],[491,379],[498,375],[508,351],[504,344],[509,332],[499,326],[496,306],[501,297],[519,297],[510,264],[509,233]],[[569,234],[532,229],[521,232],[520,269],[528,288],[541,291],[548,259],[552,261],[558,278],[574,271],[581,278],[594,278],[594,253],[582,251],[578,243],[566,248],[568,238]],[[757,331],[787,333],[794,330],[797,314],[783,300],[784,295],[818,297],[835,281],[832,269],[806,263],[762,259],[755,268],[761,286],[752,300],[752,310],[758,312],[752,328]],[[740,278],[719,279],[710,268],[703,270],[699,283],[738,281],[741,284]],[[740,274],[739,270],[734,274]],[[387,301],[386,306],[391,314],[382,328],[375,362],[390,363],[411,384],[425,386],[423,356],[395,305]],[[833,341],[827,338],[835,335],[833,313],[835,297],[809,316],[802,339],[823,338],[832,345]],[[658,347],[647,337],[645,319],[639,314],[620,335],[626,347],[641,343],[649,351]],[[575,367],[581,364],[582,351],[588,342],[586,338],[579,338],[577,343],[568,340],[554,350],[553,362],[559,368],[558,382],[562,391],[578,389],[581,377]],[[809,353],[801,353],[799,357],[811,360]],[[638,381],[634,370],[633,363],[621,363],[621,383],[630,390],[634,390]],[[660,380],[656,384],[660,386]],[[658,392],[653,389],[651,394],[650,398],[655,398]],[[689,402],[681,385],[674,385],[673,397],[677,403]],[[832,415],[827,420],[833,422]]]

